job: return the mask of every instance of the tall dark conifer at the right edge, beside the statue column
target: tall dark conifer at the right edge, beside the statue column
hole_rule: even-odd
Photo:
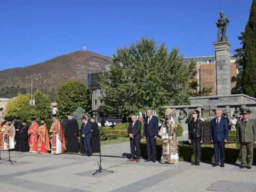
[[[243,93],[256,97],[256,0],[252,1],[249,21],[243,34]]]

